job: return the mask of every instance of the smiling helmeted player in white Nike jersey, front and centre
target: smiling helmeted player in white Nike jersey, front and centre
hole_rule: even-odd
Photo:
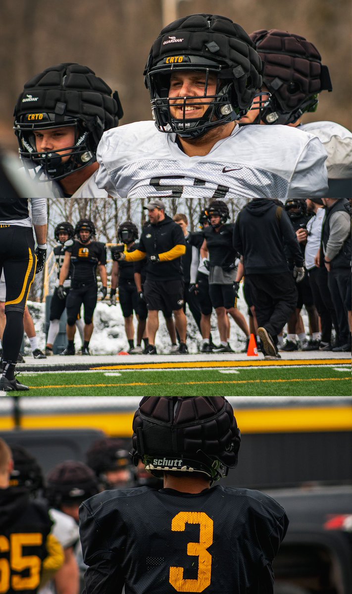
[[[284,126],[237,125],[262,86],[262,62],[229,18],[196,14],[169,24],[144,74],[155,125],[103,134],[96,182],[108,194],[210,201],[325,193],[326,151],[318,138]]]

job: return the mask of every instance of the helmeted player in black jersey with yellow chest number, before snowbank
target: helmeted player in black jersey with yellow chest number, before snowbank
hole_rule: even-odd
[[[108,282],[106,274],[106,248],[100,241],[93,241],[95,226],[90,219],[80,219],[74,229],[77,241],[69,239],[65,244],[65,256],[59,274],[58,298],[65,299],[64,282],[71,272],[71,289],[67,296],[67,340],[66,349],[61,355],[74,355],[74,335],[76,320],[81,305],[84,306],[84,342],[82,355],[89,355],[89,341],[93,334],[93,312],[96,307],[98,283],[96,269],[98,268],[102,287],[100,295],[105,299]]]

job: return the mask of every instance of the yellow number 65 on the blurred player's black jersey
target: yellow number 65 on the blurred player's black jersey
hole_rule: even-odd
[[[0,594],[10,590],[10,576],[12,571],[29,570],[29,577],[13,575],[11,577],[12,590],[35,590],[40,582],[40,558],[36,555],[24,556],[24,546],[40,546],[43,535],[40,532],[11,534],[10,542],[6,536],[0,536]],[[1,558],[2,553],[10,551],[10,562]]]

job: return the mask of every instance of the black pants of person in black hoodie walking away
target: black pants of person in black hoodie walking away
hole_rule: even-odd
[[[246,274],[248,281],[258,326],[265,327],[277,344],[277,335],[296,309],[297,289],[292,273]]]

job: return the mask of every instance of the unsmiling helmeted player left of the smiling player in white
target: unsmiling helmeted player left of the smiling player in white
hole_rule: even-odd
[[[90,68],[71,62],[46,68],[24,85],[15,106],[20,156],[55,198],[108,197],[95,178],[103,131],[123,115],[117,91],[111,93]]]

